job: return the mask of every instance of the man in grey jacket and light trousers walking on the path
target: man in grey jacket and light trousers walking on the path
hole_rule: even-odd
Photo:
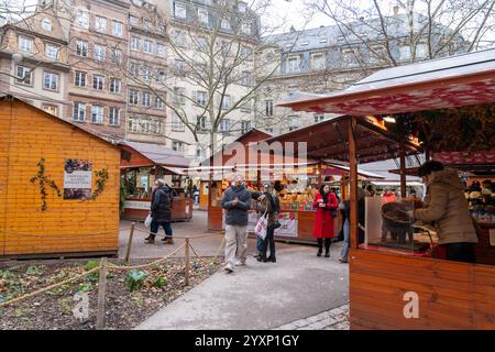
[[[244,186],[241,175],[235,175],[232,186],[226,190],[222,208],[226,215],[226,271],[245,265],[248,252],[248,210],[251,207],[251,193]]]

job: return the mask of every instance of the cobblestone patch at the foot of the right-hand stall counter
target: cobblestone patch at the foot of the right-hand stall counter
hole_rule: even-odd
[[[349,305],[295,320],[273,330],[349,330]]]

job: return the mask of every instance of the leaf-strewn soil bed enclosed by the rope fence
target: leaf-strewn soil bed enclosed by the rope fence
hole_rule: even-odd
[[[113,264],[123,264],[112,260]],[[135,261],[144,264],[151,260]],[[146,277],[131,290],[127,282],[129,271],[109,271],[107,276],[106,319],[107,329],[131,329],[144,321],[195,285],[213,274],[219,263],[191,261],[189,286],[184,286],[184,260],[170,258],[153,267],[146,267]],[[85,273],[98,261],[63,260],[51,262],[0,263],[0,302],[51,284]],[[133,283],[136,283],[135,280]],[[77,319],[73,312],[78,301],[77,293],[88,293],[89,318]],[[0,330],[90,330],[95,329],[98,305],[98,272],[78,282],[67,284],[35,297],[0,308]]]

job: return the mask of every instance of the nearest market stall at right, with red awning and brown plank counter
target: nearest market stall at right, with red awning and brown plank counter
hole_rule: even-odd
[[[473,163],[469,160],[479,153],[480,161],[495,168],[490,162],[495,150],[495,50],[385,69],[344,91],[286,101],[282,106],[352,117],[345,151],[351,163],[351,208],[354,209],[350,252],[351,329],[495,329],[492,299],[495,266],[490,262],[495,246],[493,217],[486,222],[477,221],[484,231],[476,253],[483,250],[483,255],[476,257],[476,264],[470,264],[438,258],[435,233],[429,234],[429,240],[427,235],[426,243],[421,239],[425,233],[416,231],[413,241],[410,238],[403,241],[410,228],[404,227],[407,222],[391,218],[388,208],[384,207],[378,208],[382,213],[374,213],[375,223],[366,222],[365,243],[359,244],[355,207],[356,165],[370,150],[359,144],[356,130],[359,122],[370,117],[389,121],[385,128],[395,130],[393,135],[399,146],[405,139],[417,139],[427,160],[441,160],[442,153],[450,154],[450,158],[462,156],[464,162],[447,164],[464,164],[464,169],[470,169]],[[314,156],[309,147],[308,155]],[[387,157],[377,155],[380,158]],[[400,160],[402,196],[406,197],[404,152]],[[373,205],[373,199],[366,199],[366,207]],[[391,239],[389,224],[407,232],[395,232],[396,238]]]

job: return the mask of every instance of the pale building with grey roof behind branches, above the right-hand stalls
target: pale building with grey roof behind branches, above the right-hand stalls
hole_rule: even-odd
[[[416,19],[425,23],[428,20],[419,14]],[[266,72],[274,66],[278,68],[277,73],[263,84],[256,100],[256,128],[280,134],[330,119],[334,116],[294,112],[276,107],[276,102],[295,98],[298,92],[328,94],[345,89],[373,72],[391,66],[392,58],[397,65],[429,58],[426,38],[418,33],[415,33],[418,35],[416,47],[410,46],[409,22],[405,14],[395,13],[393,18],[387,19],[391,55],[386,53],[385,37],[369,33],[370,28],[380,28],[377,23],[373,23],[376,21],[378,19],[370,19],[367,26],[363,23],[351,23],[349,28],[352,30],[331,25],[305,31],[292,30],[264,37],[264,42],[270,45],[256,59],[265,63]],[[416,23],[415,29],[419,31],[422,25]],[[452,35],[451,30],[440,24],[433,28],[435,42],[440,42],[446,33]],[[464,52],[465,42],[461,35],[452,42],[454,45],[446,46],[439,56]]]

